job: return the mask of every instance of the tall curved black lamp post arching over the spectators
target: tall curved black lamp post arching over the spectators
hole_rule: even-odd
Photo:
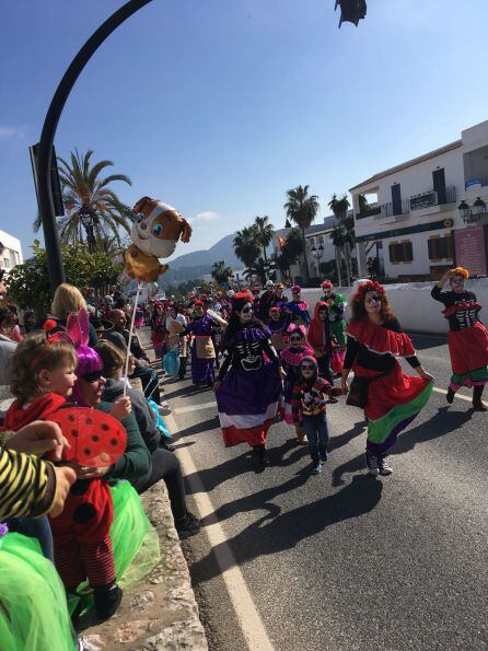
[[[59,237],[56,226],[56,216],[53,206],[53,194],[50,186],[50,159],[59,118],[61,116],[62,109],[65,108],[65,104],[69,97],[71,89],[73,88],[81,71],[86,66],[93,54],[112,34],[112,32],[114,32],[119,25],[121,25],[121,23],[124,23],[124,21],[150,2],[151,0],[129,0],[129,2],[126,2],[123,7],[120,7],[120,9],[113,13],[90,36],[78,55],[71,61],[68,70],[65,72],[61,81],[59,82],[59,85],[49,105],[46,119],[44,120],[37,158],[38,202],[40,218],[43,221],[49,279],[53,290],[55,290],[61,282],[65,282],[65,269],[62,268],[61,252],[59,248]]]

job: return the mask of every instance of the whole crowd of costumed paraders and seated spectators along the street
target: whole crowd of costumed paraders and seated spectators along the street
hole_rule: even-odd
[[[448,271],[432,299],[450,326],[448,403],[469,387],[473,408],[486,411],[488,333],[467,279],[461,267]],[[259,466],[269,464],[270,427],[286,422],[309,446],[312,475],[327,463],[327,409],[344,399],[364,412],[367,472],[392,474],[388,453],[434,379],[387,291],[360,283],[348,322],[346,300],[328,280],[313,314],[300,287],[286,291],[268,281],[131,307],[115,289],[95,306],[90,290],[62,284],[40,321],[0,307],[0,385],[10,399],[0,432],[2,649],[82,648],[74,630],[85,613],[104,620],[117,611],[128,569],[158,562],[158,555],[141,559],[151,525],[139,495],[159,480],[179,536],[199,532],[164,422],[161,375],[184,380],[190,367],[193,384],[214,392],[224,445],[247,444]],[[137,335],[142,326],[155,364]],[[20,578],[23,593],[14,590]]]

